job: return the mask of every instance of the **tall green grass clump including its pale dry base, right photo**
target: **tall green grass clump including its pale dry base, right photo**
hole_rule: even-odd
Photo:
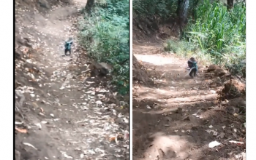
[[[231,73],[245,76],[245,5],[237,3],[228,12],[224,4],[205,0],[198,4],[192,17],[183,34],[186,45],[192,47],[182,52],[193,52],[201,59],[225,66]],[[167,41],[167,46],[173,46],[173,41]]]

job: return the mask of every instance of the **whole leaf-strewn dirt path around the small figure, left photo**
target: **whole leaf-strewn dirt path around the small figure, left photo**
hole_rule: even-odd
[[[15,159],[128,159],[129,115],[106,79],[82,72],[76,25],[86,1],[45,2],[47,11],[22,3],[15,2],[15,32],[33,49],[20,44],[31,56],[15,60]],[[72,55],[64,56],[69,37]]]

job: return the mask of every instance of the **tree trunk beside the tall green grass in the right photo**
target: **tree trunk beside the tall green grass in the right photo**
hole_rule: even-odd
[[[187,20],[187,12],[189,9],[189,0],[178,0],[178,8],[176,14],[178,16],[178,25],[180,29],[180,36],[183,32],[185,22]],[[181,39],[181,37],[180,37]]]

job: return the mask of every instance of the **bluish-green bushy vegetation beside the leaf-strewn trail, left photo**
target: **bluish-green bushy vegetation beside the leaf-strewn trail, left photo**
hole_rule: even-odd
[[[129,92],[129,0],[94,1],[90,14],[84,9],[80,44],[90,57],[113,65],[113,84]]]

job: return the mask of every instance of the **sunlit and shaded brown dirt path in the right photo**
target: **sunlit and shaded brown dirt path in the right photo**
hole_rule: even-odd
[[[132,52],[154,81],[133,82],[133,159],[245,159],[244,145],[229,143],[245,136],[241,122],[219,108],[217,86],[208,85],[217,78],[206,78],[199,65],[190,79],[187,60],[162,53],[161,44],[134,43]],[[209,148],[215,140],[220,144]]]

